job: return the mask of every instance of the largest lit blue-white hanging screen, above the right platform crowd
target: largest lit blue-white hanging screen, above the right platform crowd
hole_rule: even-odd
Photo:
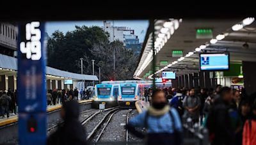
[[[226,53],[201,53],[201,71],[225,71],[229,70],[229,54]]]

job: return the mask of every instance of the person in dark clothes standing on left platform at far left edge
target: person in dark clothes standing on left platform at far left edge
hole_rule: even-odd
[[[9,104],[11,102],[11,97],[6,95],[6,92],[3,92],[3,95],[0,97],[1,107],[2,107],[2,116],[4,118],[4,112],[7,114],[7,118],[9,118]]]

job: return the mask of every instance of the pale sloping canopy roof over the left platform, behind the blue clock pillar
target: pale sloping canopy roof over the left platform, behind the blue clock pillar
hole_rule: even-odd
[[[14,57],[9,57],[7,55],[0,54],[0,69],[3,72],[17,71],[17,59]],[[46,74],[50,78],[60,77],[63,79],[77,79],[77,80],[88,80],[88,81],[98,81],[97,76],[88,74],[76,74],[73,72],[61,71],[59,69],[54,69],[52,67],[46,67]]]

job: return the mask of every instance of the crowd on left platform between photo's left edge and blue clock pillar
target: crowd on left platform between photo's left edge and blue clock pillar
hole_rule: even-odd
[[[9,118],[17,114],[17,90],[0,91],[0,116]]]

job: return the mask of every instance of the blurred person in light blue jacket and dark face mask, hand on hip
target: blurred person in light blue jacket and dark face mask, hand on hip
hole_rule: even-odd
[[[182,143],[182,124],[176,109],[170,107],[165,94],[157,90],[152,95],[152,105],[138,116],[131,118],[127,129],[137,137],[147,137],[147,144],[179,145]],[[147,128],[147,134],[136,130]]]

